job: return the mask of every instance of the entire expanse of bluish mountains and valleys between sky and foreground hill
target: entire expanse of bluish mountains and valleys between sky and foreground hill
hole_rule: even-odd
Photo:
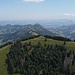
[[[33,24],[35,22],[39,24]],[[28,21],[0,21],[0,45],[10,40],[15,41],[17,38],[36,35],[64,36],[75,39],[75,22],[72,20],[36,20],[29,21],[31,24],[25,25],[24,23],[28,23]]]

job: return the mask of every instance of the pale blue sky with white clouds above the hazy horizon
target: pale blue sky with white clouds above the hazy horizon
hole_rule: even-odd
[[[0,0],[0,20],[75,19],[75,0]]]

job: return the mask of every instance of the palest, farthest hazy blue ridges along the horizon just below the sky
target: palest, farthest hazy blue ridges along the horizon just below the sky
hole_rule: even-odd
[[[26,25],[26,24],[36,24],[39,23],[44,27],[58,27],[62,25],[70,25],[75,24],[74,20],[68,19],[54,19],[54,20],[9,20],[9,21],[0,21],[0,25]]]

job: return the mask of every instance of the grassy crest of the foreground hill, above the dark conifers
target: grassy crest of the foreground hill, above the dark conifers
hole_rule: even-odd
[[[31,41],[33,45],[36,45],[38,42],[41,42],[42,45],[44,45],[45,43],[62,45],[64,43],[63,41],[57,41],[57,40],[53,40],[53,39],[47,39],[46,42],[44,40],[45,40],[45,37],[41,36],[39,38],[23,41],[22,43],[24,44],[25,42],[29,42],[29,41]],[[67,51],[69,51],[69,50],[75,51],[75,42],[66,42],[65,46],[67,47]]]

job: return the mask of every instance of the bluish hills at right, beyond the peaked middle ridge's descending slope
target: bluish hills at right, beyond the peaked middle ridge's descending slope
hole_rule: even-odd
[[[63,25],[57,28],[47,28],[52,32],[56,32],[60,36],[64,36],[70,39],[75,39],[75,24]]]

